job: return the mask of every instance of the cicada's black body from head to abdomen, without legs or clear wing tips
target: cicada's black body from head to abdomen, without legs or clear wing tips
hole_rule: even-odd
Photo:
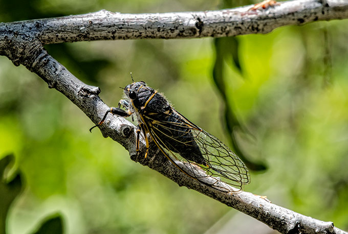
[[[207,166],[191,132],[191,126],[187,125],[181,115],[173,111],[161,93],[142,82],[133,83],[130,87],[126,87],[128,88],[129,91],[136,92],[137,98],[132,100],[132,103],[138,121],[142,122],[148,130],[149,128],[157,129],[157,138],[160,138],[157,144],[179,153],[187,160]]]

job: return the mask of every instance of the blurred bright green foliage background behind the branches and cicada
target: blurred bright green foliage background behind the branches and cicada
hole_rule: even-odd
[[[0,0],[0,6],[0,21],[16,21],[100,9],[214,10],[222,3]],[[228,107],[250,132],[236,134],[238,146],[268,166],[264,173],[252,174],[245,190],[346,230],[347,22],[238,36],[237,46],[226,39],[226,51],[235,49],[219,71]],[[79,79],[100,86],[106,104],[118,103],[118,87],[130,83],[132,72],[135,80],[159,89],[188,119],[229,144],[225,104],[212,79],[213,39],[78,42],[46,49]],[[236,219],[229,207],[134,163],[119,144],[99,131],[89,133],[91,126],[76,106],[35,74],[0,58],[0,157],[13,154],[15,168],[27,181],[8,213],[8,233],[33,233],[55,213],[62,215],[66,233],[77,234],[217,233],[220,225]],[[247,232],[250,220],[243,217],[236,225]]]

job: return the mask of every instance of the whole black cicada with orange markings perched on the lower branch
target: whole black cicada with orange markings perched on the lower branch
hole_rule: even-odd
[[[118,108],[107,110],[96,126],[104,122],[109,112],[122,117],[135,114],[139,123],[137,151],[142,131],[146,142],[145,157],[150,136],[162,153],[182,172],[214,189],[235,192],[223,186],[221,181],[239,190],[250,182],[249,171],[237,155],[215,136],[187,120],[157,90],[140,81],[127,85],[124,93],[126,99],[120,100]],[[127,111],[121,109],[121,105]]]

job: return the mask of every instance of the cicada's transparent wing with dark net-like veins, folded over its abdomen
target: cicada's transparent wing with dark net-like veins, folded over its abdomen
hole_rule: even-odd
[[[250,182],[249,171],[237,155],[176,110],[143,119],[157,146],[185,174],[223,192],[243,190]]]

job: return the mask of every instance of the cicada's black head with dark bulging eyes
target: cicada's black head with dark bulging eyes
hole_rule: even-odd
[[[145,105],[147,100],[151,97],[151,95],[154,94],[154,92],[155,89],[147,86],[144,81],[128,84],[124,88],[124,94],[138,109]]]

